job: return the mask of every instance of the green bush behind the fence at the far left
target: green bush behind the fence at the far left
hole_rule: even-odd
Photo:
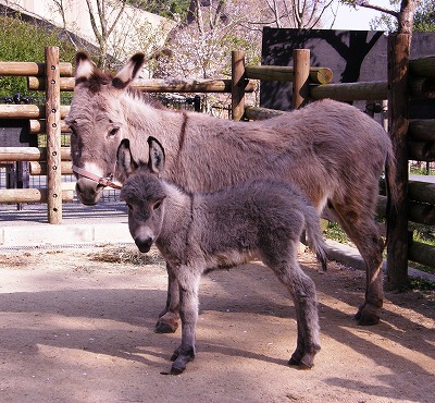
[[[59,37],[59,32],[14,17],[0,16],[0,60],[14,62],[44,62],[45,48],[58,46],[62,61],[72,62],[75,49]],[[25,77],[0,76],[0,96],[20,93],[30,95]],[[33,93],[34,94],[34,93]]]

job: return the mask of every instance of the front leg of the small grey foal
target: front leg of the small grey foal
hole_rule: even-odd
[[[179,316],[182,318],[182,344],[174,351],[171,359],[171,374],[178,375],[195,358],[195,328],[198,319],[198,290],[200,274],[186,268],[187,276],[179,277]]]

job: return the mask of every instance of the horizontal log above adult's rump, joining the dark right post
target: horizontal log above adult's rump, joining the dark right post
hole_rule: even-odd
[[[311,99],[331,98],[340,101],[387,99],[386,82],[358,82],[310,85]]]

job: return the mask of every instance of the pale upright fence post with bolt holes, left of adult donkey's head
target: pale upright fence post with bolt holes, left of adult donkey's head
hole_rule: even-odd
[[[46,48],[48,222],[62,223],[61,90],[59,48]]]

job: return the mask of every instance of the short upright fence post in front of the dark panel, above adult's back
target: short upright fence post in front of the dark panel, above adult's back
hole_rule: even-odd
[[[293,51],[295,77],[293,80],[291,109],[303,107],[310,96],[310,50],[295,49]]]

